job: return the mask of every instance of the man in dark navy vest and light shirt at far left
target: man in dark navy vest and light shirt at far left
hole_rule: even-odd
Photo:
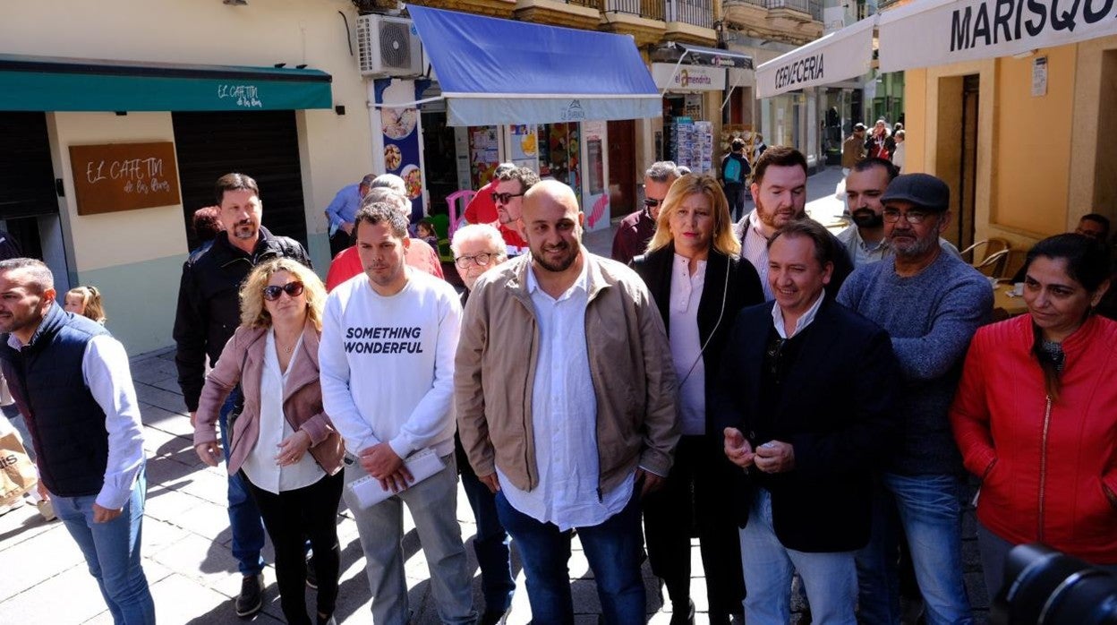
[[[0,369],[38,452],[39,493],[74,537],[113,622],[155,623],[140,565],[143,426],[124,345],[55,302],[41,261],[0,262]]]

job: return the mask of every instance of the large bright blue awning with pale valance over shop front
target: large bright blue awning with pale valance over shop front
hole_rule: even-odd
[[[451,126],[662,115],[631,37],[408,4]]]

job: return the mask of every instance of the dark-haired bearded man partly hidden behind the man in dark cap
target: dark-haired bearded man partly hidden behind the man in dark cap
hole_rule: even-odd
[[[846,177],[846,206],[853,224],[838,233],[838,240],[846,246],[853,268],[862,267],[891,256],[892,248],[885,238],[885,207],[880,197],[888,183],[899,176],[899,170],[885,159],[869,158],[858,161]],[[958,258],[958,248],[939,237],[938,245]]]

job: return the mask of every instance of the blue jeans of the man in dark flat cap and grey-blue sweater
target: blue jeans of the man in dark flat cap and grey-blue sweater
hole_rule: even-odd
[[[865,623],[899,623],[895,523],[907,536],[928,625],[972,623],[973,613],[962,575],[962,508],[965,481],[958,475],[885,473],[882,506],[873,509],[872,538],[858,553],[860,571],[872,574],[861,584]],[[877,498],[881,499],[881,498]],[[887,571],[880,575],[880,571]]]

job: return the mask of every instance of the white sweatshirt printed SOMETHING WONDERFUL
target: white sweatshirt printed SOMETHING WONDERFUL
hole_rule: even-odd
[[[454,353],[461,304],[446,282],[407,267],[390,297],[363,273],[326,300],[322,398],[352,454],[386,442],[400,457],[454,449]]]

